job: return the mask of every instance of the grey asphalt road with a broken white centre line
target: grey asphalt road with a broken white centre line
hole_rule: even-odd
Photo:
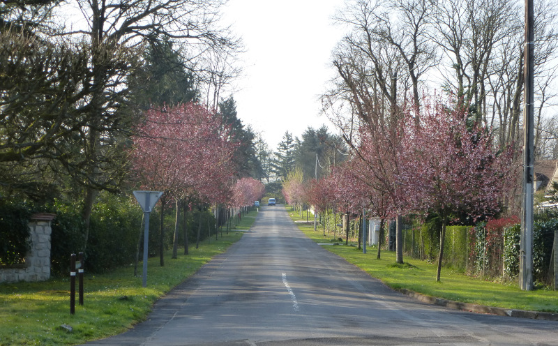
[[[146,322],[87,345],[558,345],[558,322],[414,301],[307,239],[282,206],[259,210]]]

